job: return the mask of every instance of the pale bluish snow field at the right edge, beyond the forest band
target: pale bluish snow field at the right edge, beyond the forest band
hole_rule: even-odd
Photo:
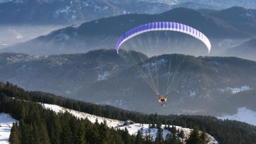
[[[248,124],[256,125],[256,111],[247,108],[238,108],[235,115],[218,116],[221,120],[237,120]]]

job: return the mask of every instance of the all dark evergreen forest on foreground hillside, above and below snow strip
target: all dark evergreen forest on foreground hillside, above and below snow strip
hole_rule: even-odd
[[[11,98],[15,99],[11,99]],[[44,92],[26,92],[10,83],[0,83],[0,112],[10,113],[20,120],[10,136],[11,143],[147,143],[127,131],[108,129],[104,124],[91,124],[88,120],[77,120],[68,113],[58,114],[44,109],[35,102],[57,104],[65,108],[84,111],[93,115],[118,120],[131,119],[148,124],[180,125],[198,127],[220,143],[256,143],[256,127],[242,122],[218,120],[211,116],[145,115],[133,111],[100,106],[97,104],[66,99]],[[163,141],[162,141],[163,142]],[[159,143],[150,141],[148,143]]]

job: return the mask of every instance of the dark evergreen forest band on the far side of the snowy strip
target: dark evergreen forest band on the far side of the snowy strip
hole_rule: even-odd
[[[9,97],[9,98],[8,98]],[[15,99],[10,99],[13,97]],[[19,99],[19,100],[17,100]],[[22,101],[26,100],[26,102]],[[220,143],[256,143],[256,127],[243,122],[234,120],[219,120],[213,116],[199,115],[146,115],[135,111],[127,111],[113,106],[101,106],[79,100],[67,99],[45,92],[27,92],[22,88],[11,83],[0,83],[0,112],[10,113],[17,120],[24,120],[24,109],[26,103],[42,102],[47,104],[56,104],[68,109],[74,109],[89,113],[92,115],[113,118],[116,120],[131,119],[141,124],[168,124],[179,125],[182,127],[198,127],[200,131],[204,129]],[[14,104],[15,103],[15,104]],[[44,110],[40,104],[35,104],[40,110],[33,111],[33,118],[41,115],[44,116]],[[31,108],[29,108],[31,109]],[[26,111],[25,111],[26,110]],[[49,111],[46,110],[45,111]],[[37,114],[36,114],[37,113]],[[68,114],[65,114],[68,115]],[[40,116],[39,116],[40,117]],[[32,119],[33,119],[32,118]],[[26,122],[31,122],[31,118],[27,118]],[[33,127],[33,122],[30,123]],[[239,142],[238,142],[239,141]]]

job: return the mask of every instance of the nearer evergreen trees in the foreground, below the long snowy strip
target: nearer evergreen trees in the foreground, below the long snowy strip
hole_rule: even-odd
[[[106,122],[99,124],[97,120],[92,124],[88,119],[77,119],[68,112],[57,114],[35,102],[10,99],[6,96],[1,96],[0,102],[1,112],[20,118],[19,124],[13,124],[9,139],[11,144],[182,144],[184,139],[184,132],[179,132],[170,125],[164,129],[171,131],[172,135],[167,134],[165,138],[161,125],[150,127],[157,129],[155,141],[150,135],[150,129],[145,136],[141,131],[137,135],[130,135],[127,129],[122,131],[118,127],[109,128]],[[195,130],[191,132],[186,143],[195,143],[195,140],[198,140],[198,144],[201,141],[207,143],[205,131],[199,136],[198,129]]]

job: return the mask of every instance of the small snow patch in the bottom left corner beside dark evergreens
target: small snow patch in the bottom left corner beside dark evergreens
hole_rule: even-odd
[[[0,113],[0,144],[9,143],[13,122],[18,122],[6,113]]]

